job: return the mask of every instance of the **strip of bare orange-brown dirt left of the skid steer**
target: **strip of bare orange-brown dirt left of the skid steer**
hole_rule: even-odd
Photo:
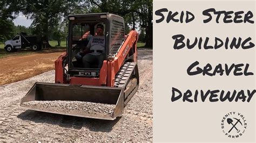
[[[0,59],[0,85],[25,80],[54,69],[54,61],[65,52],[42,51],[36,54],[16,55]]]

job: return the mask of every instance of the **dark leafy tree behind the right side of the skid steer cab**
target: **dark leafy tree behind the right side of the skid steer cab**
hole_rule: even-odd
[[[110,12],[125,18],[126,24],[136,28],[145,28],[145,42],[147,47],[153,47],[153,1],[152,0],[90,0],[92,5],[98,6],[102,12]]]

